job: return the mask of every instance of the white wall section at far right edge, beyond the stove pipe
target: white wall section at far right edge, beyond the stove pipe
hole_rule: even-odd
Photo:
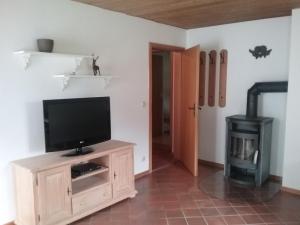
[[[289,92],[287,97],[286,140],[283,186],[300,189],[300,9],[293,10],[291,25]]]

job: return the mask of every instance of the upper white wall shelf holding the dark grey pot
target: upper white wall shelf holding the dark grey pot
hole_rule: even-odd
[[[77,54],[65,54],[65,53],[49,53],[49,52],[38,52],[38,51],[15,51],[15,55],[20,57],[24,70],[26,70],[31,62],[32,56],[51,56],[51,57],[66,57],[74,59],[75,70],[78,69],[82,60],[92,59],[91,55],[77,55]]]

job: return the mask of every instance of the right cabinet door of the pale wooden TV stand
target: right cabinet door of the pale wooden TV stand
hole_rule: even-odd
[[[133,153],[131,149],[112,154],[113,197],[128,195],[134,189]]]

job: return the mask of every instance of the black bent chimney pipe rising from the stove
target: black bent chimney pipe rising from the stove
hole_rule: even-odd
[[[257,117],[257,101],[260,93],[276,93],[276,92],[287,92],[288,82],[258,82],[255,83],[247,94],[247,113],[248,118]]]

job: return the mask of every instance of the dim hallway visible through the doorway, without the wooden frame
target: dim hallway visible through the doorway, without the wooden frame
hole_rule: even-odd
[[[171,131],[171,53],[152,50],[152,169],[173,159]]]

